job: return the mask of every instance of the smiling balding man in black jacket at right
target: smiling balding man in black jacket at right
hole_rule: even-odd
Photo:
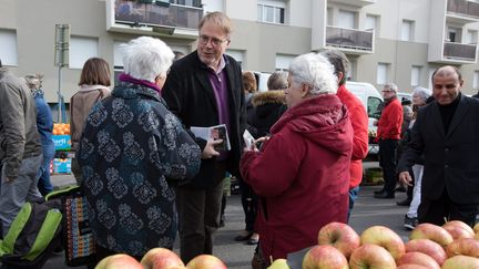
[[[445,219],[473,226],[479,205],[479,101],[460,93],[463,81],[455,66],[432,74],[435,102],[418,113],[411,141],[402,154],[399,179],[410,184],[415,159],[425,156],[419,223]]]

